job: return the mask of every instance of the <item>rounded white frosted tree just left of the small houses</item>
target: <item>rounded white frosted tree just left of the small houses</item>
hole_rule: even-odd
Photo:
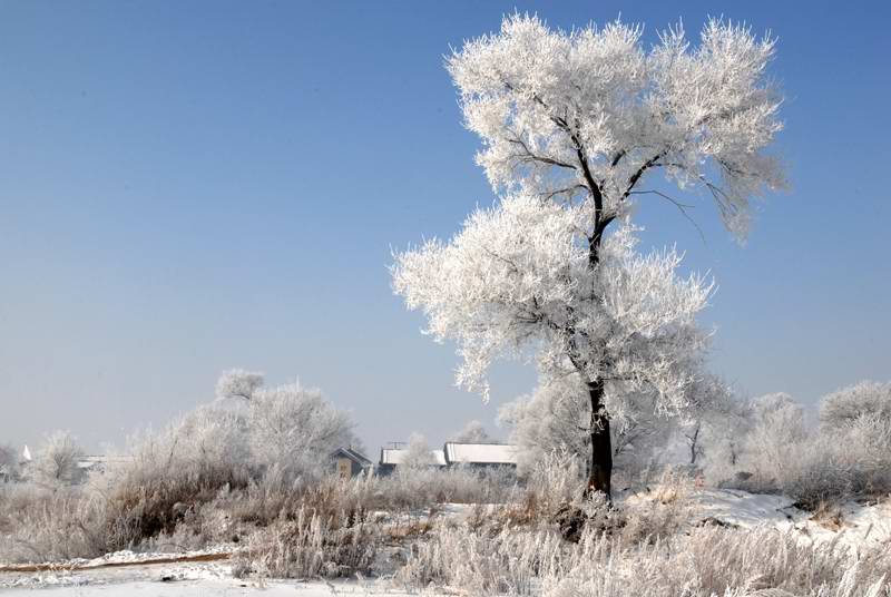
[[[254,391],[248,429],[257,463],[286,478],[317,473],[334,450],[355,443],[350,414],[296,383]]]

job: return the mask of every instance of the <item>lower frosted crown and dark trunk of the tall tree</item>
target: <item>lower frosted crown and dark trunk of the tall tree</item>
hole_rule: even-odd
[[[637,255],[629,226],[604,242],[591,270],[584,218],[581,209],[509,195],[452,242],[400,255],[394,280],[408,305],[427,312],[430,333],[458,341],[466,386],[486,394],[486,371],[505,353],[533,353],[548,383],[580,386],[591,486],[608,491],[610,420],[636,421],[637,401],[659,415],[687,405],[708,343],[695,320],[711,284],[679,277],[674,251]]]

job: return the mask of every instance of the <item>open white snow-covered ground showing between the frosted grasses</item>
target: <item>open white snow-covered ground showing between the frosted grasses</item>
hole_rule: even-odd
[[[638,493],[624,500],[653,499]],[[803,541],[836,539],[841,544],[891,541],[891,501],[879,505],[850,502],[838,511],[815,516],[794,508],[783,496],[764,496],[735,490],[699,490],[689,497],[691,523],[712,519],[741,528],[773,527]],[[443,505],[441,516],[467,516],[471,506]],[[43,589],[59,597],[138,596],[204,597],[210,595],[264,595],[266,597],[321,597],[332,595],[410,595],[386,580],[239,580],[233,578],[226,556],[236,546],[218,546],[200,552],[170,554],[120,551],[92,560],[72,560],[41,571],[0,572],[3,595],[35,595]],[[167,561],[157,561],[167,560]],[[432,594],[427,594],[430,596]]]

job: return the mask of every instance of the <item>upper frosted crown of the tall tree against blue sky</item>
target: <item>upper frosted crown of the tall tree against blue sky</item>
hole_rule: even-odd
[[[682,26],[643,48],[643,27],[619,21],[570,32],[515,14],[499,33],[448,59],[477,163],[493,188],[587,205],[600,222],[627,213],[655,170],[714,198],[744,238],[751,197],[782,187],[765,153],[782,129],[766,69],[775,40],[711,19],[692,47]]]

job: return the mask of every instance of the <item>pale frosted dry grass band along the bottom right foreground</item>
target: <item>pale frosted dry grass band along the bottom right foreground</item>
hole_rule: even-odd
[[[891,594],[888,578],[891,556],[882,548],[854,555],[773,529],[703,527],[626,542],[589,528],[567,544],[548,529],[479,532],[441,523],[410,546],[394,581],[474,596],[877,597]]]

